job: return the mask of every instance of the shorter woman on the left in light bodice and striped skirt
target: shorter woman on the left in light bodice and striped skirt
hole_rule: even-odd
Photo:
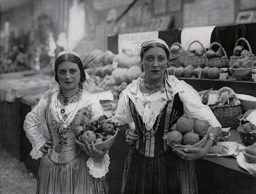
[[[54,71],[57,84],[41,97],[24,121],[33,148],[30,155],[41,158],[37,193],[108,193],[108,148],[99,150],[86,142],[84,153],[73,132],[76,126],[86,126],[103,115],[103,108],[88,92],[90,83],[77,53],[59,53]],[[43,123],[46,128],[40,127]]]

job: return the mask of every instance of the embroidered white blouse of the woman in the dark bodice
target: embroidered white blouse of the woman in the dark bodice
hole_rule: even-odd
[[[150,131],[161,113],[163,107],[167,103],[166,94],[159,91],[153,94],[144,94],[139,89],[142,78],[133,80],[126,89],[120,94],[114,122],[118,125],[131,123],[134,126],[133,118],[129,105],[129,98],[135,105],[135,108],[145,123],[146,130]],[[221,126],[214,116],[208,105],[201,102],[198,92],[183,80],[177,79],[173,75],[168,76],[168,83],[172,91],[167,91],[172,96],[179,93],[179,97],[183,103],[184,114],[190,115],[192,118],[205,120],[213,127]]]

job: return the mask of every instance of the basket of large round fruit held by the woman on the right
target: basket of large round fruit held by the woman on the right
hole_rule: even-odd
[[[203,147],[209,134],[208,124],[199,119],[192,119],[185,114],[177,120],[167,134],[167,144],[174,148]]]

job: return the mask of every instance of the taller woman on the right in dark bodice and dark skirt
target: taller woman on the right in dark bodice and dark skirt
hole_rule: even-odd
[[[145,76],[120,94],[115,122],[129,144],[121,193],[197,193],[193,160],[207,154],[220,131],[220,123],[197,91],[168,75],[169,55],[162,39],[143,42],[140,58]],[[212,126],[202,148],[181,151],[167,145],[167,133],[183,114]]]

